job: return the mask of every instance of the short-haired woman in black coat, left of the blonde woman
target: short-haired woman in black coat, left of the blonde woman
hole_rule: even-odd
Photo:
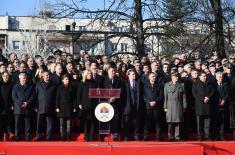
[[[67,74],[62,76],[62,83],[57,88],[56,112],[60,118],[61,140],[70,140],[71,117],[72,113],[76,111],[76,102],[74,101],[74,91]]]

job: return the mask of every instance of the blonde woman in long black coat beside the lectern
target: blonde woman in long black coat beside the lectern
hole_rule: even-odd
[[[93,141],[96,118],[95,107],[98,104],[97,99],[89,98],[89,88],[97,88],[97,83],[92,78],[90,70],[83,72],[83,79],[77,91],[77,103],[82,113],[84,122],[85,141]]]

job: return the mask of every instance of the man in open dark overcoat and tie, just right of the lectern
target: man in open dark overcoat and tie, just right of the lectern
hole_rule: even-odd
[[[124,105],[124,140],[128,140],[130,124],[133,125],[134,139],[139,140],[140,117],[143,109],[140,99],[140,80],[136,81],[136,72],[128,70],[128,81],[125,82],[125,105]]]

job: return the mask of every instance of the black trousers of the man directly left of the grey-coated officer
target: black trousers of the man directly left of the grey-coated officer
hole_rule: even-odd
[[[153,125],[156,132],[156,139],[160,139],[160,131],[161,131],[161,118],[162,111],[161,110],[152,110],[147,109],[145,114],[145,125],[144,125],[144,137],[148,138],[149,131],[151,130],[151,126]]]

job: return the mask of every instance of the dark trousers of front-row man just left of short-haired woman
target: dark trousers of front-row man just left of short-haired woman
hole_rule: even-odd
[[[46,121],[46,140],[51,140],[52,136],[52,126],[53,126],[53,117],[48,114],[38,114],[37,117],[37,137],[41,137],[41,134],[44,131]]]

